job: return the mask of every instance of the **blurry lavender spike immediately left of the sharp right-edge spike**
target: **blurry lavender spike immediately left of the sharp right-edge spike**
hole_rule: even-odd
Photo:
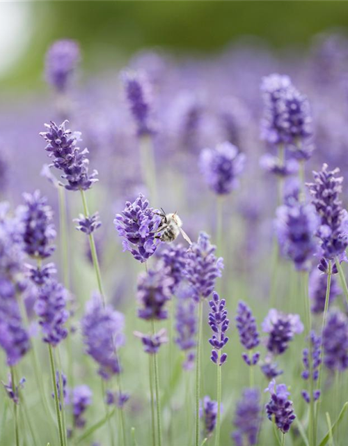
[[[319,225],[312,205],[292,203],[280,206],[276,213],[276,231],[280,251],[291,259],[297,270],[308,270],[317,252],[315,232]]]

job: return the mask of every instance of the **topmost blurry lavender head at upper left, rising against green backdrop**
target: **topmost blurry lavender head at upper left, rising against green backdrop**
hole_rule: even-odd
[[[79,61],[80,49],[74,40],[57,40],[49,47],[46,54],[47,82],[58,92],[64,92],[72,80]]]

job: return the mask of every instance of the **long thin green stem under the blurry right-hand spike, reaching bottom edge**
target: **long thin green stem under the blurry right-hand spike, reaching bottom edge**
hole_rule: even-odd
[[[309,406],[309,445],[315,446],[317,444],[317,435],[315,432],[315,401],[313,399],[314,382],[313,382],[313,345],[310,341],[310,330],[312,327],[310,305],[308,297],[308,272],[303,273],[303,299],[306,307],[306,325],[308,334],[308,352],[309,352],[309,394],[310,394],[310,406]]]

